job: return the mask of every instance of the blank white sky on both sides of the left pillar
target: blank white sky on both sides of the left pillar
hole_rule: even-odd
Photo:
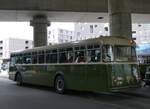
[[[63,28],[74,30],[74,24],[70,23],[51,23],[50,28]],[[5,38],[20,38],[20,39],[33,39],[33,27],[29,22],[0,22],[0,39]]]

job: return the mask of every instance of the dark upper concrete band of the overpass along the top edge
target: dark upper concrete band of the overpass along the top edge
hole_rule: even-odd
[[[132,13],[150,13],[150,0],[130,0]],[[0,10],[108,12],[107,0],[0,0]]]

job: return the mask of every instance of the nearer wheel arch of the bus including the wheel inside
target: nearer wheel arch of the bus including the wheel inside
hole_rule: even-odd
[[[65,79],[62,72],[56,73],[54,79],[54,88],[59,94],[63,94],[65,92]]]

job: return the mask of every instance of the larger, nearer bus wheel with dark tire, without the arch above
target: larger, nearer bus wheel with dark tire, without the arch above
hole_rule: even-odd
[[[55,90],[59,94],[64,94],[65,81],[64,81],[64,77],[61,76],[61,75],[56,76],[56,79],[55,79]]]

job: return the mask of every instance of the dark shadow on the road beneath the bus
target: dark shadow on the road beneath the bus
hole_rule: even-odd
[[[23,84],[23,86],[21,87],[56,93],[53,87],[45,87],[45,86],[31,85],[31,84]],[[101,92],[101,93],[66,90],[63,96],[74,96],[74,97],[81,97],[85,99],[94,99],[94,100],[99,100],[99,101],[108,101],[108,102],[111,101],[112,102],[112,101],[134,99],[135,97],[142,97],[142,98],[150,99],[149,91],[150,91],[150,88],[140,88],[134,91],[125,91],[125,92]],[[148,93],[149,95],[147,95],[146,93]]]

